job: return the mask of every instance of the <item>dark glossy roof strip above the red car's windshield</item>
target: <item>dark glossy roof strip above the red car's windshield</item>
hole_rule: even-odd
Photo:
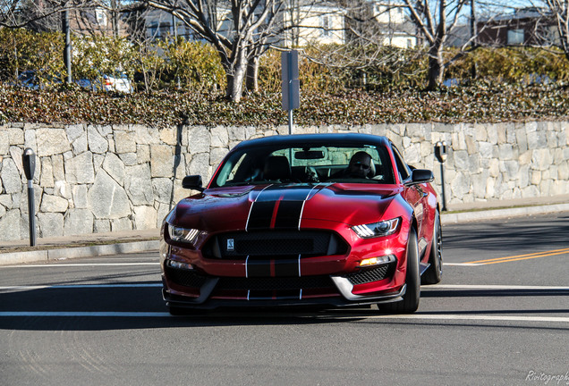
[[[255,138],[242,141],[234,149],[246,149],[249,147],[264,146],[327,146],[327,145],[382,145],[387,146],[389,139],[371,134],[360,133],[326,133],[326,134],[293,134],[276,135],[263,138]]]

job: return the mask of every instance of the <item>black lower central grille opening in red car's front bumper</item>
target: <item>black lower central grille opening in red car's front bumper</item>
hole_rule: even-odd
[[[334,288],[329,276],[219,278],[217,290],[308,290]]]

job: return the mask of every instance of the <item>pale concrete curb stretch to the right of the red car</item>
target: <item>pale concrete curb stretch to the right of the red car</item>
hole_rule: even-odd
[[[490,209],[479,212],[463,212],[441,214],[442,224],[475,222],[482,220],[503,219],[505,217],[522,217],[531,214],[550,214],[569,211],[569,204],[553,204],[548,206],[524,206],[506,209]]]

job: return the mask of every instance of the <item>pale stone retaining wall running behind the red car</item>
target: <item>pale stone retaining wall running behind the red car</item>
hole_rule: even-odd
[[[295,128],[295,133],[385,135],[409,164],[435,172],[438,140],[450,144],[447,203],[540,197],[569,191],[569,122],[382,124]],[[28,237],[21,154],[37,155],[34,176],[38,237],[159,227],[188,191],[187,174],[204,180],[243,139],[286,134],[255,127],[140,125],[0,126],[0,240]],[[440,191],[440,187],[437,186]]]

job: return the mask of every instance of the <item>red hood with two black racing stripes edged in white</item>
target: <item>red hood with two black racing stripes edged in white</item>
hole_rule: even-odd
[[[206,189],[184,198],[167,221],[206,231],[300,229],[307,223],[377,222],[401,191],[392,185],[292,183]]]

